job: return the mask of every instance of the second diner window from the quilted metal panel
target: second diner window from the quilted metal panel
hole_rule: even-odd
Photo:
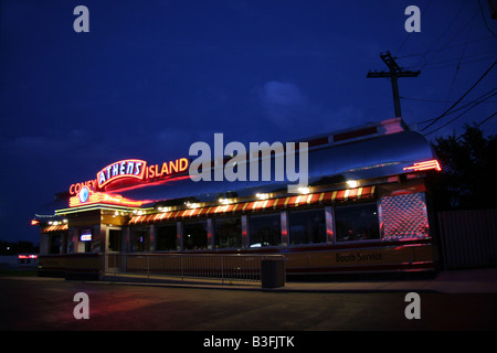
[[[289,244],[326,243],[324,208],[288,212]]]

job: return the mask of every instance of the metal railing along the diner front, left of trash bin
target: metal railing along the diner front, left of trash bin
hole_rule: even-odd
[[[138,275],[147,278],[262,281],[264,260],[283,255],[241,254],[104,254],[104,275]]]

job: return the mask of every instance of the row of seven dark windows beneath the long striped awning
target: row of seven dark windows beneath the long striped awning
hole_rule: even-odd
[[[376,203],[356,204],[335,207],[335,239],[351,242],[379,239],[379,222]],[[325,208],[300,210],[288,212],[288,245],[326,243]],[[183,249],[207,249],[209,232],[207,220],[183,222]],[[243,247],[242,217],[213,218],[213,248]],[[250,215],[247,217],[247,246],[251,248],[283,245],[282,216],[279,213]],[[156,250],[176,250],[177,224],[157,226]],[[149,249],[147,229],[135,229],[131,233],[131,250]]]

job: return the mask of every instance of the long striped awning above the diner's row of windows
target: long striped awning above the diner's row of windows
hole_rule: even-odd
[[[180,221],[201,216],[216,216],[226,214],[239,214],[258,211],[285,210],[316,204],[338,204],[359,200],[371,200],[374,197],[374,185],[336,190],[329,192],[293,195],[286,197],[250,201],[225,205],[207,207],[193,207],[181,211],[161,212],[148,215],[136,215],[129,222],[130,225],[152,224],[165,221]]]

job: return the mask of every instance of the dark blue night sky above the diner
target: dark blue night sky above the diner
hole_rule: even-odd
[[[73,30],[80,4],[89,33]],[[411,4],[420,33],[404,30]],[[2,0],[0,26],[0,239],[12,242],[38,243],[38,207],[119,159],[186,157],[214,132],[286,141],[393,117],[389,81],[366,78],[387,69],[382,52],[421,69],[399,81],[409,125],[440,116],[497,57],[486,0]],[[457,107],[495,94],[496,78]],[[483,121],[490,94],[427,138]]]

